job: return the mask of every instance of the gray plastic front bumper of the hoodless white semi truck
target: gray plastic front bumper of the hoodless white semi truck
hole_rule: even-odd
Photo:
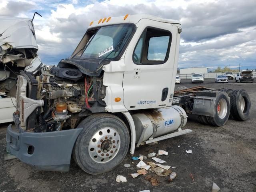
[[[72,149],[82,128],[18,133],[11,126],[7,128],[6,145],[14,156],[39,170],[69,170]]]

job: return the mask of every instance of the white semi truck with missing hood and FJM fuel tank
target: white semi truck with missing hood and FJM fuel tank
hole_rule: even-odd
[[[101,174],[129,148],[134,154],[143,144],[192,132],[182,130],[187,113],[214,126],[223,126],[230,111],[247,120],[244,90],[174,91],[181,32],[178,20],[150,15],[102,18],[58,66],[34,58],[18,75],[8,150],[37,169],[68,171],[73,156],[85,172]]]

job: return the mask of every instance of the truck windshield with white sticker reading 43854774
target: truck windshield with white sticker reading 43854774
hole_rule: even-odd
[[[133,24],[117,24],[101,27],[92,36],[81,57],[115,58],[122,52],[133,30]]]

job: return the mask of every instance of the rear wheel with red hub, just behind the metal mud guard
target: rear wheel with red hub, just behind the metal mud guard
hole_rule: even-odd
[[[206,116],[207,121],[213,126],[224,126],[230,114],[230,100],[224,91],[217,92],[214,104],[214,117]]]

